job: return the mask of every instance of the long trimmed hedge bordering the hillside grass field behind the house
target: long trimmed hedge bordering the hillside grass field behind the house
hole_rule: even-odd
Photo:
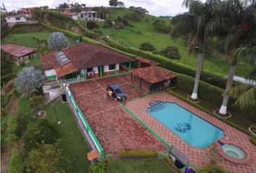
[[[171,71],[176,71],[179,74],[187,74],[188,76],[195,77],[196,68],[191,68],[190,66],[184,65],[176,61],[171,61],[168,58],[165,58],[160,55],[155,55],[147,51],[139,50],[136,48],[129,48],[125,45],[116,43],[114,40],[111,40],[108,37],[103,37],[103,40],[105,40],[111,47],[117,48],[119,50],[123,50],[127,53],[132,53],[137,56],[142,56],[150,60],[156,61],[160,63],[160,66],[162,66],[163,68],[166,68]],[[226,78],[224,78],[219,74],[214,74],[210,71],[202,71],[200,79],[214,86],[218,86],[223,89],[226,88]],[[241,83],[234,81],[234,84],[241,84]]]

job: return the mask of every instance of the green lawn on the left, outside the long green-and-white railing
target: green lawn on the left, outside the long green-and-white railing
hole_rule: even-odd
[[[72,115],[68,105],[62,104],[60,101],[55,102],[55,107],[57,116],[61,120],[60,125],[57,123],[58,121],[51,105],[45,105],[43,110],[46,110],[45,119],[55,127],[56,133],[61,138],[61,151],[72,162],[72,172],[88,172],[90,162],[87,159],[87,154],[90,148],[77,127],[74,115]],[[20,99],[20,115],[25,115],[25,112],[28,112],[30,109],[28,99]],[[22,118],[22,123],[24,123],[24,128],[26,129],[28,123],[26,118]]]

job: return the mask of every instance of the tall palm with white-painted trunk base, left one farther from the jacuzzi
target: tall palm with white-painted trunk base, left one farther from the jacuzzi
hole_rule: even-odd
[[[194,89],[191,98],[196,100],[197,89],[202,71],[202,61],[204,58],[205,47],[205,28],[212,19],[213,5],[218,3],[218,0],[208,0],[205,3],[196,0],[185,0],[183,5],[189,8],[187,14],[178,14],[171,19],[174,23],[174,29],[171,33],[172,37],[187,35],[187,50],[189,55],[195,48],[198,48],[197,72],[195,75]]]

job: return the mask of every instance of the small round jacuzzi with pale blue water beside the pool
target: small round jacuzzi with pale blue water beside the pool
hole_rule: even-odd
[[[244,151],[233,145],[225,144],[222,146],[222,150],[227,156],[231,157],[232,159],[244,159],[245,157]]]

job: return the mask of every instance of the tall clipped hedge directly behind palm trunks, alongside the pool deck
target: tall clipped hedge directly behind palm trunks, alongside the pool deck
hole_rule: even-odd
[[[177,75],[177,88],[189,94],[192,93],[195,78],[192,78],[191,76],[187,76],[184,74],[176,74],[176,75]],[[223,92],[225,92],[225,90],[217,86],[208,84],[205,81],[199,82],[198,96],[210,103],[221,106],[221,103],[223,100],[223,97],[222,97]],[[234,99],[231,99],[231,98],[229,99],[229,105],[228,105],[229,111],[239,112],[239,114],[244,115],[249,120],[253,120],[253,121],[256,120],[256,117],[255,117],[256,107],[240,110],[237,106],[233,106],[234,102],[235,102]]]

